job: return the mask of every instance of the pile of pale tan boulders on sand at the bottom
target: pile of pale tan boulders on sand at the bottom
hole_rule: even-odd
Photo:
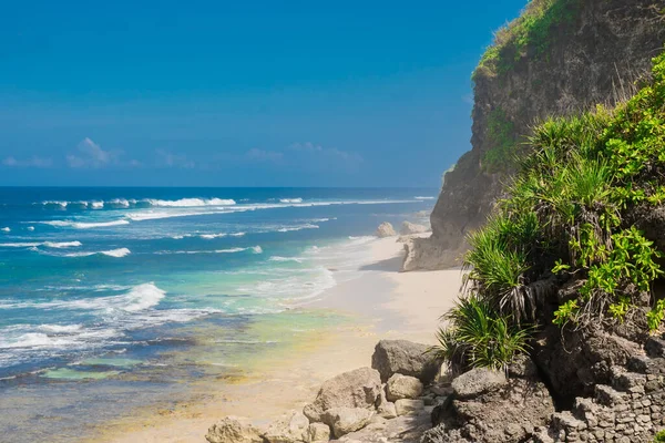
[[[303,411],[291,411],[259,430],[246,419],[227,416],[208,430],[209,443],[412,442],[431,427],[434,405],[448,390],[433,383],[440,362],[428,347],[383,340],[359,368],[326,381]],[[382,382],[385,379],[387,382]],[[427,387],[423,384],[427,383]]]

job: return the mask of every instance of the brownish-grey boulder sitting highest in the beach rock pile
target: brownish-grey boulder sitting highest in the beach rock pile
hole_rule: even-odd
[[[381,381],[386,382],[396,373],[411,375],[422,383],[434,380],[441,364],[428,353],[427,344],[407,340],[381,340],[371,356],[371,367],[379,371]]]

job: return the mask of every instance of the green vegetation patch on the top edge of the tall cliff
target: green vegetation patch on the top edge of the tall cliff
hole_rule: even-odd
[[[552,28],[574,20],[580,0],[531,0],[519,18],[494,34],[494,43],[482,55],[472,79],[501,75],[529,51],[546,55]]]

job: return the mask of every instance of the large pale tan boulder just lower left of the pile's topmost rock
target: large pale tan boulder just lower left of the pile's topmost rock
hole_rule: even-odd
[[[332,408],[374,409],[381,392],[379,372],[360,368],[341,373],[321,385],[316,400],[303,412],[310,422],[321,422],[325,411]]]

